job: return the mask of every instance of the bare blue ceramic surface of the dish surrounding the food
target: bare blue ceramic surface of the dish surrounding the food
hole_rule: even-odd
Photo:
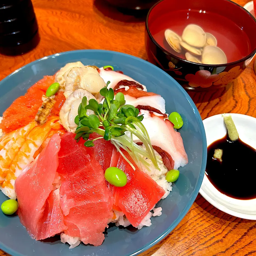
[[[81,61],[84,64],[112,65],[126,75],[147,86],[148,91],[161,94],[166,101],[167,113],[181,113],[184,125],[181,132],[189,163],[180,168],[181,175],[173,185],[173,191],[158,203],[162,215],[152,217],[152,225],[137,230],[132,227],[107,230],[101,246],[79,245],[69,249],[59,237],[35,241],[30,238],[18,216],[8,217],[0,212],[0,248],[14,256],[131,256],[149,249],[168,235],[182,220],[194,202],[200,189],[206,166],[206,137],[202,119],[192,99],[184,89],[167,73],[142,59],[131,55],[102,50],[70,51],[44,57],[34,61],[6,77],[0,82],[0,114],[27,88],[43,78],[53,75],[68,62]],[[161,136],[161,134],[159,134]],[[6,200],[0,193],[0,203]],[[55,239],[56,238],[56,239]]]

